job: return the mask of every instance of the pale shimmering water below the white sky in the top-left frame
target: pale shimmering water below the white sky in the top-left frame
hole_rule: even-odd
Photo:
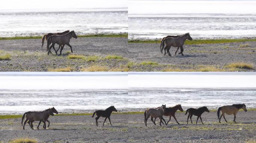
[[[77,35],[128,32],[127,9],[97,10],[15,13],[0,11],[0,37],[36,36],[65,30],[74,30]]]

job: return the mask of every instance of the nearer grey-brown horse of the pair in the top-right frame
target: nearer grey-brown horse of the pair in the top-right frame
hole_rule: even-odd
[[[183,34],[182,36],[179,36],[178,38],[165,38],[163,40],[163,42],[165,42],[165,48],[167,49],[168,55],[171,56],[170,48],[172,46],[173,47],[180,47],[180,53],[179,54],[183,55],[183,51],[184,51],[183,45],[184,45],[184,42],[185,42],[186,39],[192,40],[189,33]],[[162,45],[162,48],[164,48],[164,44]],[[178,49],[177,49],[177,51],[178,51]]]

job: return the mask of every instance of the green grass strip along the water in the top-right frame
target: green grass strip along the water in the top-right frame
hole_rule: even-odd
[[[231,42],[246,42],[256,41],[256,39],[195,39],[192,41],[186,40],[187,45],[199,45],[199,44],[219,44],[219,43],[231,43]],[[159,40],[129,40],[128,43],[161,43]]]

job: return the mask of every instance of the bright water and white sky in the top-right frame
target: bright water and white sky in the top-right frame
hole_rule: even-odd
[[[144,9],[139,9],[142,4]],[[132,0],[128,38],[155,39],[187,32],[196,39],[256,37],[253,5],[256,1]]]

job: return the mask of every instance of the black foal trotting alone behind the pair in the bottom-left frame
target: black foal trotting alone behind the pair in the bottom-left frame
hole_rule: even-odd
[[[96,118],[95,118],[95,120],[96,120],[96,125],[98,126],[98,119],[100,118],[100,117],[105,117],[105,120],[104,120],[104,122],[103,122],[103,126],[104,126],[104,123],[105,123],[105,121],[107,120],[107,118],[109,118],[109,123],[110,123],[110,125],[112,125],[111,124],[111,121],[110,121],[110,115],[111,115],[111,113],[113,112],[113,111],[115,111],[115,112],[117,112],[117,110],[116,110],[116,108],[114,107],[114,106],[110,106],[109,108],[107,108],[106,110],[97,110],[97,111],[95,111],[93,114],[92,114],[92,117],[94,117],[94,114],[96,113]]]

